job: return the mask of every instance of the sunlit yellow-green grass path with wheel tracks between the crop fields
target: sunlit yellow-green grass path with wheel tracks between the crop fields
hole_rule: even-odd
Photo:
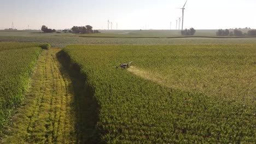
[[[18,109],[2,143],[76,143],[72,81],[56,53],[40,56],[26,101]]]

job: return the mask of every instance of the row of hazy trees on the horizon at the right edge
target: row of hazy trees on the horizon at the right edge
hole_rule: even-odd
[[[229,29],[219,29],[216,32],[217,36],[256,36],[256,30],[249,30],[247,33],[243,33],[240,29],[234,29],[234,31],[229,31]]]

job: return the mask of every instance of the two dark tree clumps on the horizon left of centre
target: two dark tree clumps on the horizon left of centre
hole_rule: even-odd
[[[45,25],[42,26],[41,30],[42,30],[44,33],[55,33],[55,32],[56,32],[55,29],[48,28],[48,27],[46,27]],[[98,30],[93,30],[93,29],[92,29],[92,26],[90,26],[90,25],[81,26],[81,27],[73,26],[73,27],[71,28],[71,30],[72,30],[72,31],[69,31],[69,32],[72,32],[72,33],[79,33],[79,34],[100,33]]]

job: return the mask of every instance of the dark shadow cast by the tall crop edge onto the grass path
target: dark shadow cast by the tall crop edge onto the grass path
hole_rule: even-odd
[[[75,111],[76,143],[102,143],[97,133],[98,113],[100,106],[93,97],[92,88],[86,82],[86,75],[80,73],[77,64],[72,64],[69,56],[60,51],[56,54],[61,63],[61,73],[69,74],[74,91],[73,109]]]

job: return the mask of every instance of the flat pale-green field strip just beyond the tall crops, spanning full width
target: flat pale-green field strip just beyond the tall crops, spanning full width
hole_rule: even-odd
[[[7,36],[0,35],[0,41],[17,41],[25,43],[49,43],[52,47],[65,47],[69,44],[122,44],[122,45],[170,45],[170,44],[256,44],[256,38],[81,38],[50,36]]]

